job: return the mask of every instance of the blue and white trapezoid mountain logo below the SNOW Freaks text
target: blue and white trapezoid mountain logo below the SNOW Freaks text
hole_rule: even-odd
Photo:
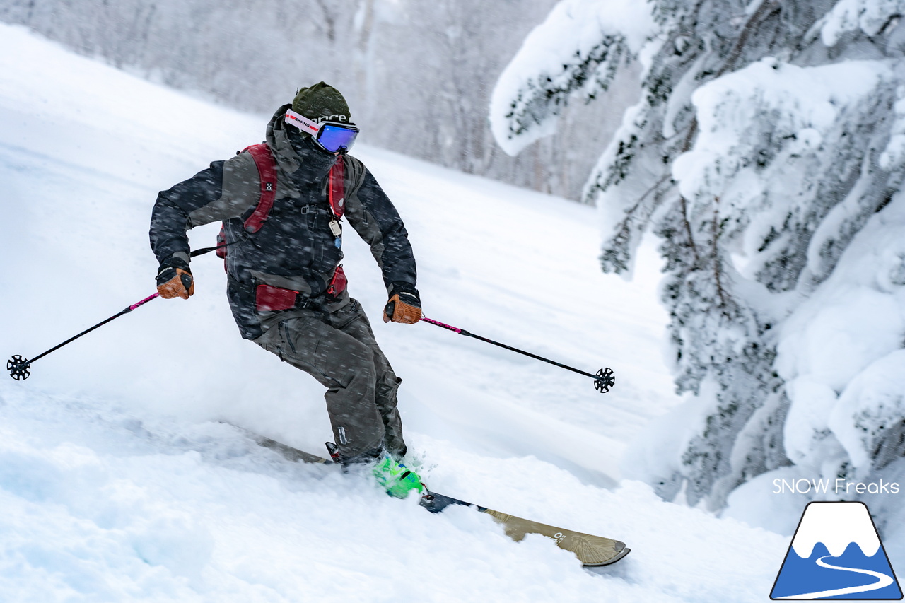
[[[808,503],[770,598],[900,600],[899,580],[867,505]]]

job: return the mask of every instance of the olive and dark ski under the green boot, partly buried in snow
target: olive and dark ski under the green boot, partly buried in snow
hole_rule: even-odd
[[[258,445],[262,445],[265,448],[271,448],[271,450],[280,453],[290,461],[300,461],[302,463],[310,464],[333,464],[332,461],[321,456],[311,455],[298,448],[293,448],[292,446],[282,444],[276,440],[271,440],[269,437],[259,436],[242,427],[236,428],[251,437]],[[487,507],[481,507],[477,504],[466,503],[457,498],[452,498],[452,496],[425,491],[421,497],[421,506],[427,511],[434,513],[443,512],[443,510],[451,504],[467,506],[476,511],[487,513],[496,520],[496,522],[502,524],[503,530],[506,531],[506,535],[513,541],[522,540],[525,538],[526,534],[541,534],[547,536],[556,543],[557,547],[574,553],[578,560],[581,561],[582,565],[588,567],[610,565],[611,563],[615,563],[624,558],[631,550],[621,541],[614,541],[611,538],[586,534],[580,531],[557,528],[556,526],[548,525],[546,523],[532,522],[521,517],[516,517],[515,515],[509,515],[507,513],[488,509]]]

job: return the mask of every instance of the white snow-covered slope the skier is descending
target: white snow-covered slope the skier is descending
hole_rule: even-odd
[[[4,353],[33,357],[153,292],[157,190],[257,142],[265,121],[0,25]],[[624,445],[676,403],[653,251],[635,282],[605,277],[592,209],[356,150],[405,218],[428,316],[616,372],[601,396],[590,379],[449,331],[385,325],[376,265],[348,236],[350,290],[405,379],[428,483],[633,553],[582,570],[541,537],[513,543],[466,509],[433,516],[219,423],[316,453],[329,438],[319,385],[239,338],[223,268],[205,256],[189,302],[151,302],[28,380],[0,379],[0,599],[767,598],[786,537],[620,481]],[[214,232],[196,229],[193,245]]]

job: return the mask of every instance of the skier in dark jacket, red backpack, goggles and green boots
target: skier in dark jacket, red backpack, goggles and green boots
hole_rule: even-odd
[[[266,145],[214,161],[157,196],[151,248],[161,297],[188,299],[189,228],[223,221],[227,296],[243,338],[308,372],[327,389],[335,461],[371,464],[387,493],[421,492],[400,461],[401,379],[377,346],[340,260],[341,218],[371,246],[389,300],[384,321],[421,318],[412,247],[402,219],[357,158],[358,129],[343,96],[323,81],[273,115]]]

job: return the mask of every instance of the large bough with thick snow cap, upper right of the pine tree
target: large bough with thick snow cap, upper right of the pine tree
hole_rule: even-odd
[[[872,215],[877,196],[862,198],[866,184],[846,196],[843,184],[861,175],[864,158],[845,141],[872,127],[892,77],[886,61],[803,68],[764,59],[692,95],[700,134],[672,174],[692,218],[723,200],[732,230],[743,233],[737,248],[751,261],[748,277],[783,291],[806,261],[824,278],[838,258],[825,242],[843,249]]]

